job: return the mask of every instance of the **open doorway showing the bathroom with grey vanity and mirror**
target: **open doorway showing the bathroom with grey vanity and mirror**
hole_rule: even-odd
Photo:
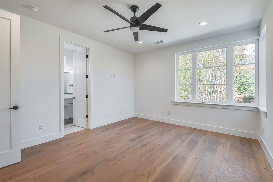
[[[88,128],[88,50],[64,42],[64,135]]]

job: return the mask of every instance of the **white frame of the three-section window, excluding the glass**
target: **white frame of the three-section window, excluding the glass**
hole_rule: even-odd
[[[255,44],[255,103],[235,103],[233,102],[233,47],[246,44]],[[226,101],[201,101],[197,97],[197,54],[198,52],[210,51],[215,49],[226,48]],[[190,51],[183,51],[175,53],[175,101],[188,102],[188,103],[201,103],[201,104],[218,104],[218,105],[230,105],[230,106],[258,106],[258,86],[259,86],[259,67],[258,67],[258,39],[250,39],[245,41],[232,42],[228,44],[221,44],[216,46],[210,46],[200,49],[193,49]],[[178,97],[178,61],[179,56],[191,53],[191,100],[183,100]]]

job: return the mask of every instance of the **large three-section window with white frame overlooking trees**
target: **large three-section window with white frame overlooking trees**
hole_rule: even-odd
[[[176,53],[176,100],[257,103],[257,40]]]

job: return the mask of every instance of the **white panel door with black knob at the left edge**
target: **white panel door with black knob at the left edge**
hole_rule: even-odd
[[[0,10],[0,167],[21,161],[20,16]]]

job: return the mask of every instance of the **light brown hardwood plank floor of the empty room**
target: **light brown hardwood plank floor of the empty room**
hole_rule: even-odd
[[[273,181],[258,140],[130,118],[22,150],[2,181]]]

